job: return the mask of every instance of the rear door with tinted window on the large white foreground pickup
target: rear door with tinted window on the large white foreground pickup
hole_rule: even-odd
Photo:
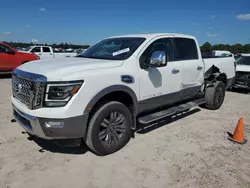
[[[175,37],[175,61],[181,64],[180,99],[195,97],[203,83],[204,64],[195,39]]]

